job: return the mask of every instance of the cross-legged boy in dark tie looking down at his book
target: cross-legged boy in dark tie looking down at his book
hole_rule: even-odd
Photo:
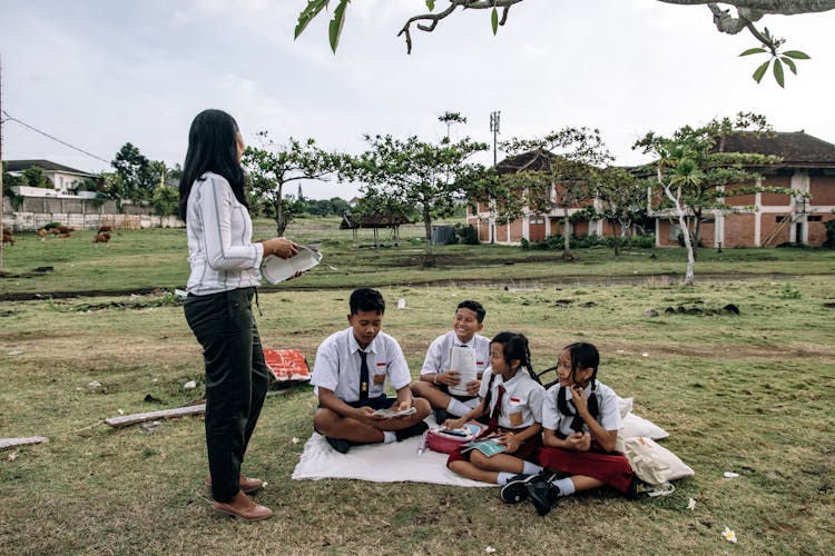
[[[379,291],[360,288],[348,301],[351,325],[320,345],[311,383],[316,387],[318,409],[313,426],[342,454],[354,444],[393,443],[423,434],[423,419],[431,411],[425,399],[413,399],[411,375],[397,340],[382,331],[385,300]],[[397,397],[385,395],[385,379]],[[382,418],[375,409],[391,408],[415,414]]]

